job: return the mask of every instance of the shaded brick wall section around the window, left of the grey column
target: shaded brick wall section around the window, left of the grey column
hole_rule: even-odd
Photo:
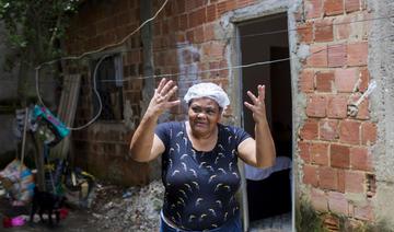
[[[116,44],[139,24],[139,0],[85,1],[73,19],[66,42],[70,54],[80,55],[103,46]],[[90,127],[73,131],[73,156],[78,166],[97,177],[125,185],[142,185],[149,181],[149,165],[132,161],[127,156],[134,125],[138,124],[141,113],[142,49],[140,34],[127,40],[121,48],[124,66],[124,103],[132,114],[124,121],[96,121]],[[118,47],[115,47],[118,48]],[[100,58],[100,57],[99,57]],[[81,95],[77,111],[76,126],[86,124],[95,116],[91,71],[86,60],[68,65],[70,72],[83,74]],[[131,126],[130,126],[131,125]]]

